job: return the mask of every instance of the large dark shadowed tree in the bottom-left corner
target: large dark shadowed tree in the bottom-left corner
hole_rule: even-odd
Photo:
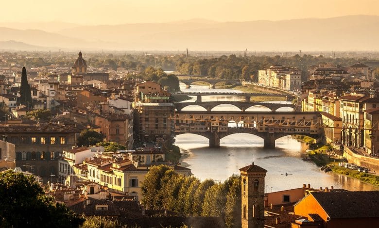
[[[65,205],[46,196],[33,176],[0,173],[0,227],[74,228],[84,222]]]

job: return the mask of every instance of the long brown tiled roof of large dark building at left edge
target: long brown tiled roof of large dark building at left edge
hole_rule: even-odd
[[[79,133],[76,128],[60,124],[40,123],[39,126],[0,126],[1,133]]]

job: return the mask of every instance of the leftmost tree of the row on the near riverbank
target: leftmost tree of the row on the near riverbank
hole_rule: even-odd
[[[162,183],[161,179],[165,176],[166,171],[170,170],[167,165],[152,166],[142,182],[141,193],[143,195],[142,203],[151,209],[162,208],[162,198],[160,196]]]

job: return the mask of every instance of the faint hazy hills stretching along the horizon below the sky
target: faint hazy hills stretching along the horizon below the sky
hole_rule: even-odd
[[[203,19],[69,27],[57,33],[0,28],[0,40],[31,45],[108,50],[379,50],[379,16],[282,21]]]

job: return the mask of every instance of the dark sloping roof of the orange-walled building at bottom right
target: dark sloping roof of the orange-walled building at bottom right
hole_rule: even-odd
[[[312,192],[310,195],[317,200],[331,219],[379,218],[379,191]]]

